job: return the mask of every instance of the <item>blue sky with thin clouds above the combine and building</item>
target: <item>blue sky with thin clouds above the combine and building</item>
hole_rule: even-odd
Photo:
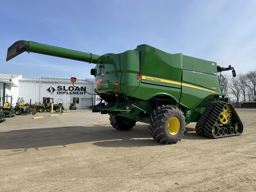
[[[256,69],[256,0],[12,0],[0,1],[0,73],[23,77],[92,78],[95,64],[7,49],[30,40],[103,55],[149,44]]]

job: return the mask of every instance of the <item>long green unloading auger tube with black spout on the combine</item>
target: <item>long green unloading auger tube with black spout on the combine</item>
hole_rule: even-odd
[[[40,44],[33,41],[19,40],[8,48],[6,61],[20,55],[23,52],[34,52],[48,56],[56,56],[65,59],[84,61],[87,63],[98,63],[100,56],[88,52],[80,52],[72,49],[55,47],[47,44]]]

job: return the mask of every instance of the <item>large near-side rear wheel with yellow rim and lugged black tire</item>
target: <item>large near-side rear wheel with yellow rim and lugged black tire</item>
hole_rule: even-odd
[[[157,107],[149,121],[149,130],[153,139],[164,144],[174,144],[181,140],[186,126],[183,114],[176,106]]]

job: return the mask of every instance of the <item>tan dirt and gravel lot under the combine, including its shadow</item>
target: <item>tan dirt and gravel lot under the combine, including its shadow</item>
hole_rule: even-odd
[[[164,145],[148,124],[117,131],[90,110],[20,115],[0,124],[1,192],[255,192],[256,109],[241,136],[208,139],[188,124]],[[44,118],[32,119],[32,117]]]

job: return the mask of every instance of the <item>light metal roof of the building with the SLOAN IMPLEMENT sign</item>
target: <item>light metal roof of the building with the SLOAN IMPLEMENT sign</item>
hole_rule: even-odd
[[[71,83],[70,79],[57,79],[57,78],[30,78],[30,77],[23,77],[20,81],[36,81],[36,82],[52,82],[52,83]],[[94,82],[94,81],[93,81]],[[76,83],[92,83],[91,80],[76,80]]]

